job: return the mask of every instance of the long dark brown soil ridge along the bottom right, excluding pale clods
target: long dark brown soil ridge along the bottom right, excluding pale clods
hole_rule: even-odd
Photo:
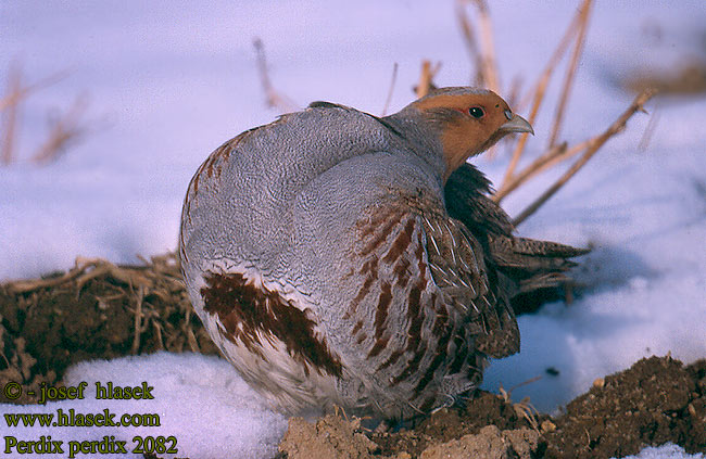
[[[414,430],[376,433],[371,438],[381,456],[424,458],[430,445],[478,435],[487,425],[497,426],[503,434],[522,429],[539,434],[537,441],[526,441],[529,456],[514,447],[519,457],[621,457],[667,442],[688,452],[704,452],[706,360],[684,367],[669,357],[641,359],[628,370],[596,380],[556,418],[533,413],[527,404],[478,392],[465,409],[441,410]]]

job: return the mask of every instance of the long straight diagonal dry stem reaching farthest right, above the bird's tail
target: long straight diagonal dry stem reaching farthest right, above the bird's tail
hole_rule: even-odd
[[[554,195],[571,177],[578,173],[585,163],[593,157],[593,155],[608,141],[613,136],[621,132],[626,128],[628,119],[636,112],[644,112],[644,104],[652,99],[656,93],[656,90],[646,89],[641,92],[635,100],[630,104],[628,110],[626,110],[615,123],[613,123],[608,129],[606,129],[601,136],[595,138],[587,148],[585,152],[581,157],[573,163],[573,165],[559,179],[554,182],[541,196],[539,196],[532,204],[527,206],[520,214],[513,220],[515,226],[518,226],[532,215],[537,209],[544,204],[550,197]]]

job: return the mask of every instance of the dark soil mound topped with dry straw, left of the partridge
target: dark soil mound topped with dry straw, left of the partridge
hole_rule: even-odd
[[[54,384],[68,366],[156,350],[217,354],[173,255],[144,266],[77,260],[66,273],[0,285],[0,386]],[[0,401],[7,403],[3,394]]]

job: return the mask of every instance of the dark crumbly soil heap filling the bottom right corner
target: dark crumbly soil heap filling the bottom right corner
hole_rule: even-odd
[[[706,362],[651,357],[606,377],[546,433],[547,458],[621,457],[667,442],[706,450]]]

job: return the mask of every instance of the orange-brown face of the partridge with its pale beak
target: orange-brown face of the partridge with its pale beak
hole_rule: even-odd
[[[445,178],[469,156],[481,153],[509,132],[532,132],[524,118],[515,115],[507,103],[491,91],[440,93],[414,103],[437,122],[446,161]]]

